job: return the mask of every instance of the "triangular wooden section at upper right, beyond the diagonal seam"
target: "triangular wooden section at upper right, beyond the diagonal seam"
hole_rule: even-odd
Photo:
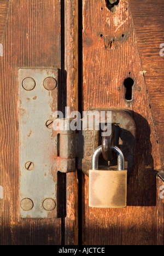
[[[150,98],[151,112],[153,113],[157,141],[159,143],[162,162],[164,159],[164,57],[160,56],[160,44],[164,43],[164,2],[160,1],[130,1],[134,29],[139,48],[140,59],[145,71]]]

